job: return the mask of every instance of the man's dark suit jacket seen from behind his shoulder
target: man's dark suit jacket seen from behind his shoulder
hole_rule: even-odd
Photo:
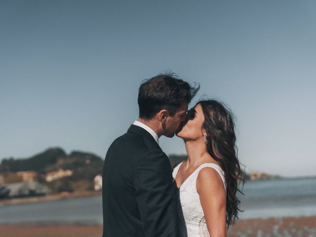
[[[170,162],[153,136],[131,125],[103,166],[103,237],[177,237]]]

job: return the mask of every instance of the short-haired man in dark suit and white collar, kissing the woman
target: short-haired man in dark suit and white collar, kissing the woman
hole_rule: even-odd
[[[140,85],[139,118],[104,161],[103,237],[177,237],[172,172],[158,138],[174,136],[198,89],[173,74]]]

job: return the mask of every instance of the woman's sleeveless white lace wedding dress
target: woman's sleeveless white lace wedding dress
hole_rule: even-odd
[[[181,163],[174,168],[172,172],[173,179],[175,179],[180,165]],[[200,165],[176,191],[180,237],[209,237],[196,187],[198,172],[204,167],[214,168],[219,173],[226,191],[226,181],[223,170],[213,163]]]

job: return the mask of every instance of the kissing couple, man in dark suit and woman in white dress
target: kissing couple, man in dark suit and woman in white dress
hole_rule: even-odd
[[[139,118],[109,147],[103,166],[103,237],[225,237],[238,219],[242,173],[234,118],[216,100],[188,110],[194,87],[172,73],[139,87]],[[173,170],[160,136],[183,139]]]

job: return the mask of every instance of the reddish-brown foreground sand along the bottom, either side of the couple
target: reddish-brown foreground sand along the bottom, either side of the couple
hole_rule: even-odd
[[[0,225],[3,237],[101,237],[102,226]],[[228,237],[315,237],[316,216],[238,220]]]

